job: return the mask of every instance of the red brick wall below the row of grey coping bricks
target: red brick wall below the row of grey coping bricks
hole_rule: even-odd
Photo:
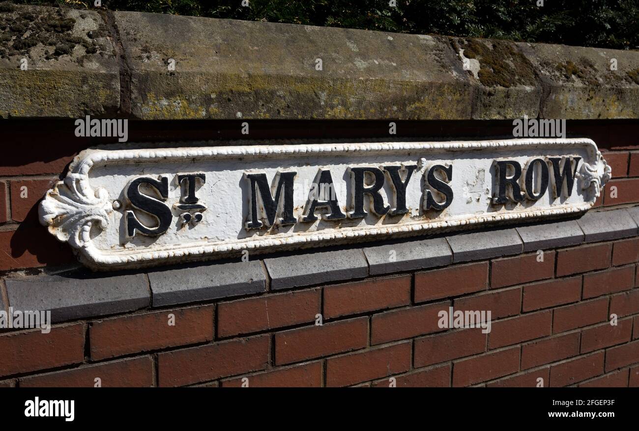
[[[544,262],[523,254],[71,322],[49,335],[5,331],[0,380],[388,386],[395,377],[397,386],[535,386],[541,377],[544,386],[639,386],[638,253],[639,241],[624,239],[547,250]],[[505,282],[503,271],[520,276]],[[491,332],[438,328],[438,311],[449,306],[491,310]]]

